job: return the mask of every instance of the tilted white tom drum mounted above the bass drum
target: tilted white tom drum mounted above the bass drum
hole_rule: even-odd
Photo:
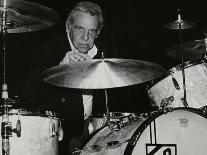
[[[189,107],[200,108],[207,104],[207,63],[185,62],[186,100]],[[147,91],[153,106],[183,107],[182,66],[170,69],[159,81],[153,81]]]

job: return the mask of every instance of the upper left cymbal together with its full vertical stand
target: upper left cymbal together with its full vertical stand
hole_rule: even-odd
[[[38,12],[38,14],[36,14]],[[12,132],[17,137],[21,136],[21,122],[18,119],[16,128],[12,129],[9,121],[9,108],[12,107],[12,100],[8,95],[8,85],[6,79],[6,36],[8,33],[31,32],[47,28],[57,22],[57,14],[50,8],[20,0],[1,0],[0,1],[0,32],[3,38],[3,84],[2,84],[2,155],[10,154],[9,137]]]

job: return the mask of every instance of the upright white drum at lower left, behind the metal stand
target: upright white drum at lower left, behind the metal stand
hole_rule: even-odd
[[[61,123],[56,116],[51,113],[41,114],[12,109],[9,112],[9,122],[13,131],[16,131],[17,122],[20,122],[18,125],[21,128],[19,134],[12,132],[9,137],[10,154],[58,155]],[[0,150],[2,150],[2,145],[0,145]]]

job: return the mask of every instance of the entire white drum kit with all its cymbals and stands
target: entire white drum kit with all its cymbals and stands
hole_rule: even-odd
[[[12,109],[6,83],[6,35],[37,31],[55,24],[52,9],[27,1],[0,1],[1,33],[4,40],[2,85],[2,155],[57,155],[61,122],[51,113]],[[167,52],[182,63],[167,72],[155,63],[133,59],[104,58],[62,64],[45,70],[42,79],[51,85],[105,91],[106,115],[93,126],[89,141],[78,154],[205,154],[207,139],[206,41],[182,44],[181,30],[194,27],[178,20],[164,25],[179,30],[180,45]],[[103,55],[103,54],[102,54]],[[185,55],[202,55],[195,62],[184,62]],[[192,56],[193,57],[193,56]],[[149,113],[110,112],[107,89],[151,81],[147,92],[158,110]],[[13,128],[12,124],[16,124]],[[15,134],[14,134],[15,133]],[[193,133],[193,134],[192,134]]]

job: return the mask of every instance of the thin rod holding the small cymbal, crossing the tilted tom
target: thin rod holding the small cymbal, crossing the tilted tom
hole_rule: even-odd
[[[180,42],[180,49],[181,49],[181,63],[182,63],[182,77],[183,77],[183,92],[184,96],[181,98],[183,105],[185,107],[188,107],[188,103],[186,100],[186,83],[185,83],[185,65],[184,65],[184,56],[183,56],[183,46],[182,46],[182,35],[181,35],[181,16],[180,16],[180,10],[178,9],[178,23],[179,23],[179,42]]]

